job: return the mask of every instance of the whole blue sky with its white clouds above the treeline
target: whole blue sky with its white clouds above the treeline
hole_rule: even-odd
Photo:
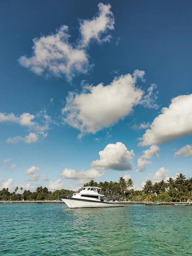
[[[0,188],[190,177],[191,9],[1,2]]]

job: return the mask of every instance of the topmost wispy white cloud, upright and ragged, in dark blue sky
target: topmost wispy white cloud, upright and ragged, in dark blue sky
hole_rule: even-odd
[[[101,38],[103,33],[108,30],[114,29],[115,20],[112,12],[110,11],[110,4],[104,5],[98,4],[99,13],[97,17],[92,20],[83,20],[80,24],[80,32],[82,35],[82,46],[86,47],[92,39],[95,39],[99,43],[110,41],[111,36]]]

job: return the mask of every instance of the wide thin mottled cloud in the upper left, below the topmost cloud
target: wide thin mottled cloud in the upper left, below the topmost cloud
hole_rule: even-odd
[[[68,26],[62,25],[55,34],[34,38],[32,57],[22,56],[18,61],[39,76],[43,73],[56,77],[65,75],[70,80],[75,73],[86,73],[89,62],[86,51],[69,43],[68,30]]]

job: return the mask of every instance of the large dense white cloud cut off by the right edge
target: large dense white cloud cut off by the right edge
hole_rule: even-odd
[[[171,100],[169,108],[162,108],[149,129],[140,138],[139,145],[165,143],[192,134],[192,94]]]

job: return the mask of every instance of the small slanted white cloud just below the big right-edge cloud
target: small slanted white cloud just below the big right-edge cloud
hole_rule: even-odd
[[[144,150],[143,154],[137,160],[139,169],[137,169],[136,172],[145,172],[145,165],[152,163],[147,159],[151,159],[154,154],[159,157],[159,150],[160,148],[157,145],[152,145],[149,149]]]

